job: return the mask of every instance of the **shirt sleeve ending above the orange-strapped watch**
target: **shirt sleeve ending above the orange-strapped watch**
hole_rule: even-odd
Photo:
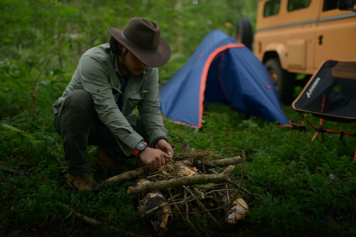
[[[143,138],[136,133],[115,103],[109,83],[108,66],[92,56],[83,56],[78,65],[79,79],[93,98],[100,120],[115,135],[120,148],[129,156]]]

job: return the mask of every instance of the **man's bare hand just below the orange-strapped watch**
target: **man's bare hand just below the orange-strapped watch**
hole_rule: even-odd
[[[161,168],[164,164],[166,164],[166,161],[170,157],[172,157],[172,156],[169,156],[168,154],[164,153],[163,151],[161,151],[159,149],[154,149],[151,147],[146,147],[146,149],[140,153],[141,160],[150,169]]]

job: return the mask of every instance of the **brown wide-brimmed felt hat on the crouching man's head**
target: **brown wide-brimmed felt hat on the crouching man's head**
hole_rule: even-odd
[[[133,17],[123,30],[108,27],[112,37],[151,68],[166,64],[171,58],[171,49],[161,39],[159,26],[145,18]]]

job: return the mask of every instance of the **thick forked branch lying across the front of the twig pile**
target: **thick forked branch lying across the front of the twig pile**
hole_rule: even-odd
[[[169,180],[160,180],[152,183],[141,184],[137,186],[130,186],[127,194],[135,195],[140,193],[152,192],[159,189],[172,188],[177,186],[187,186],[192,184],[202,183],[220,183],[226,182],[234,184],[231,181],[229,174],[234,169],[234,166],[228,166],[223,173],[219,174],[198,174],[188,177],[173,178]]]

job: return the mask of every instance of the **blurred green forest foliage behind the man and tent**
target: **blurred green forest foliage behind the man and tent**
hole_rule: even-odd
[[[80,56],[108,42],[108,26],[123,29],[131,17],[158,23],[161,37],[172,49],[171,60],[160,68],[164,84],[206,34],[221,29],[235,37],[237,20],[254,19],[256,7],[257,0],[1,0],[0,114],[16,114],[28,107],[32,84],[39,86],[37,103],[53,103]],[[49,62],[39,75],[47,58]],[[57,92],[48,86],[57,87]]]

